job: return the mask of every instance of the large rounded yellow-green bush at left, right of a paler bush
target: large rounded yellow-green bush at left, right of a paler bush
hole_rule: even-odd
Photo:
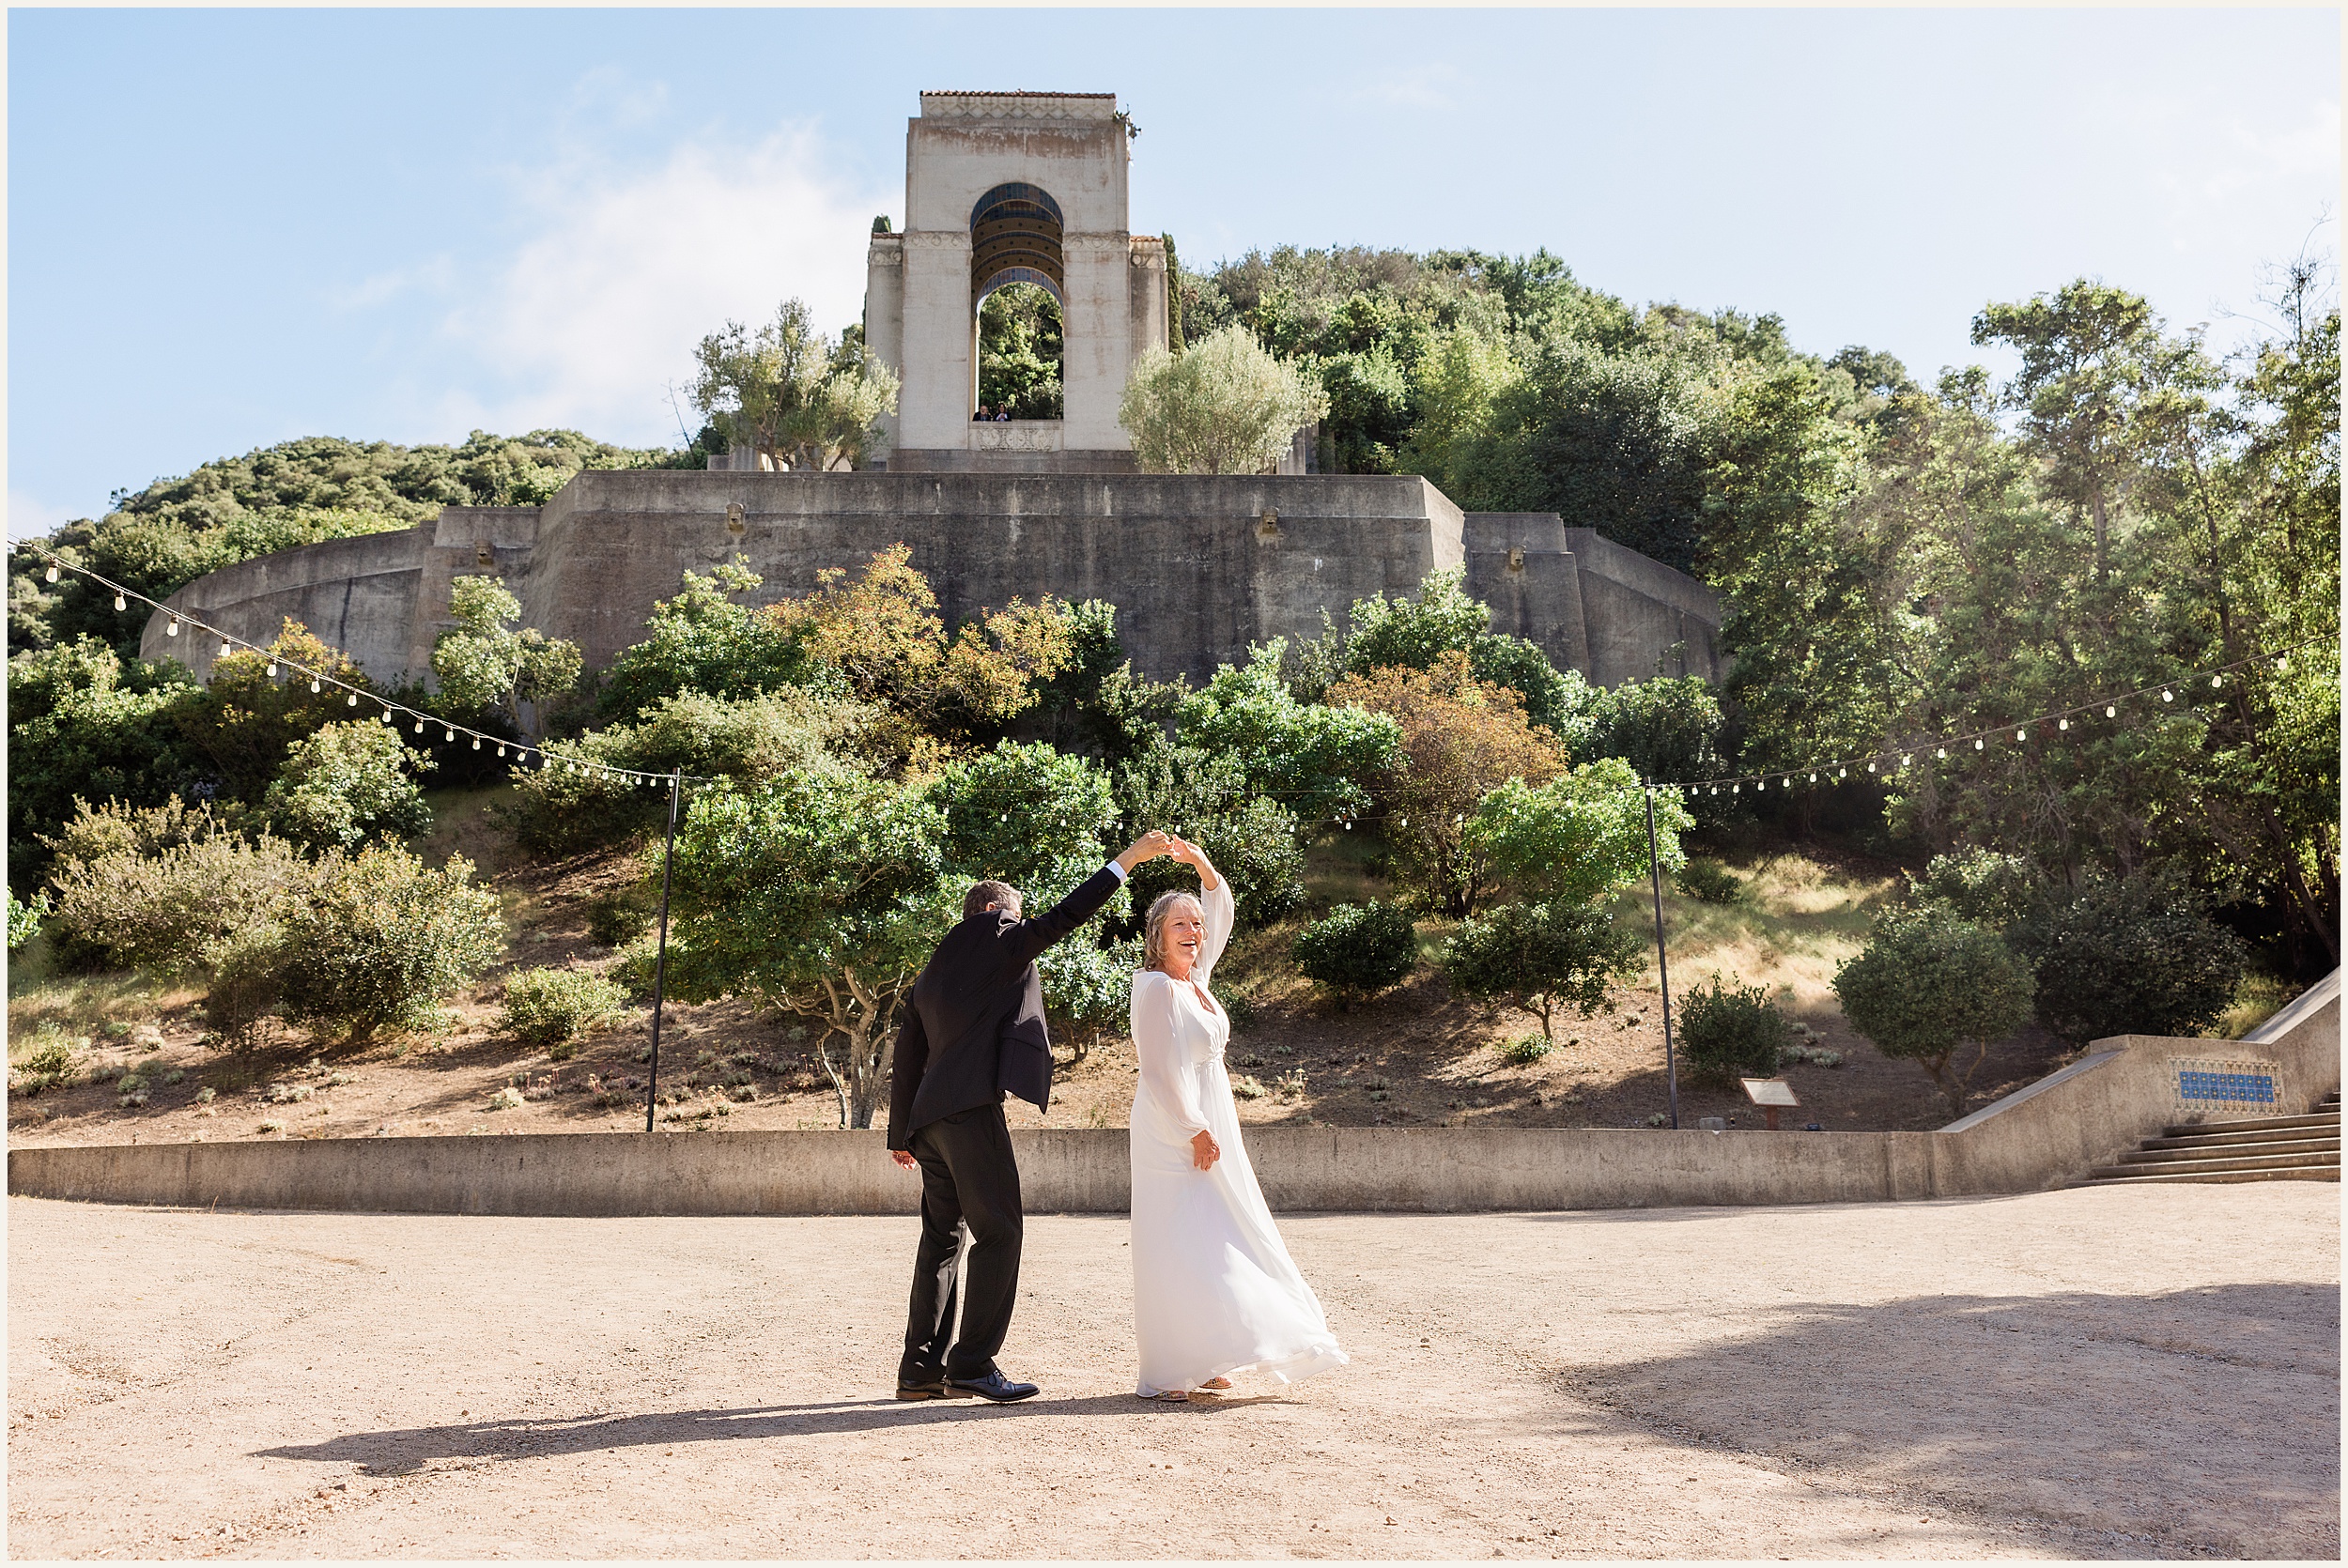
[[[498,894],[472,861],[430,871],[406,850],[333,857],[317,894],[286,920],[279,986],[286,1014],[364,1040],[413,1023],[505,948]]]

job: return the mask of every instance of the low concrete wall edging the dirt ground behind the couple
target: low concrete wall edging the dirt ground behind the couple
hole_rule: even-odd
[[[1653,1209],[2038,1192],[2184,1120],[2177,1056],[2254,1056],[2287,1110],[2339,1087],[2339,976],[2240,1042],[2123,1035],[1942,1131],[1259,1127],[1282,1211]],[[1014,1131],[1033,1214],[1122,1214],[1122,1129]],[[9,1192],[409,1214],[911,1214],[878,1131],[531,1134],[9,1150]]]

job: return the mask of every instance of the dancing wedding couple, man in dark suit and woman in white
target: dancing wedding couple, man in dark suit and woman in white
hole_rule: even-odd
[[[1019,913],[1019,890],[979,883],[913,981],[888,1117],[897,1164],[920,1169],[899,1399],[1010,1404],[1035,1394],[1033,1383],[1012,1383],[996,1366],[1019,1296],[1021,1237],[1003,1096],[1038,1110],[1052,1101],[1035,955],[1160,854],[1197,871],[1200,897],[1169,892],[1151,904],[1134,974],[1134,1392],[1188,1399],[1230,1387],[1233,1376],[1296,1383],[1345,1364],[1240,1143],[1223,1073],[1230,1019],[1207,988],[1230,941],[1230,885],[1197,845],[1153,831],[1033,920]]]

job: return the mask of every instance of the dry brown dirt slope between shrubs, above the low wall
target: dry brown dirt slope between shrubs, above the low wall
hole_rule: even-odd
[[[451,852],[477,859],[502,894],[514,932],[507,960],[453,998],[437,1028],[385,1033],[364,1045],[279,1030],[263,1049],[228,1054],[207,1042],[193,991],[155,988],[136,976],[12,976],[12,1054],[21,1059],[45,1028],[82,1040],[85,1054],[80,1082],[9,1099],[9,1143],[641,1129],[650,1077],[648,1009],[589,1035],[566,1061],[498,1030],[512,969],[613,965],[613,948],[592,934],[592,913],[627,887],[641,864],[622,852],[554,864],[519,857],[484,817],[493,796],[446,805],[425,845],[427,859]],[[1864,941],[1869,913],[1892,890],[1892,878],[1801,854],[1756,857],[1742,876],[1747,899],[1733,906],[1667,894],[1674,993],[1684,998],[1714,972],[1770,984],[1789,1016],[1813,1030],[1808,1042],[1841,1056],[1831,1068],[1787,1068],[1803,1101],[1787,1127],[1876,1131],[1949,1122],[1949,1106],[1925,1070],[1885,1059],[1857,1038],[1827,988],[1834,962]],[[1315,850],[1313,890],[1322,904],[1392,894],[1327,847]],[[1618,918],[1644,920],[1641,897],[1625,894]],[[1435,962],[1449,922],[1421,927],[1425,962],[1409,984],[1350,1012],[1296,974],[1289,941],[1298,925],[1301,918],[1244,932],[1216,972],[1216,991],[1235,1002],[1240,1019],[1233,1073],[1242,1091],[1249,1080],[1261,1087],[1256,1099],[1240,1103],[1242,1120],[1641,1127],[1667,1113],[1662,995],[1653,972],[1618,988],[1613,1012],[1559,1016],[1557,1047],[1517,1063],[1500,1047],[1533,1033],[1536,1023],[1449,993]],[[2029,1028],[1991,1052],[1975,1080],[1975,1103],[2029,1084],[2062,1061],[2062,1042]],[[117,1091],[124,1070],[141,1096]],[[1108,1038],[1085,1061],[1061,1068],[1047,1115],[1012,1106],[1012,1122],[1122,1127],[1134,1077],[1132,1045]],[[667,1096],[657,1115],[679,1127],[815,1129],[841,1120],[808,1030],[747,1002],[672,1002],[660,1087]],[[500,1089],[517,1089],[521,1103],[493,1106]],[[1754,1117],[1733,1084],[1684,1075],[1681,1117],[1705,1115]]]

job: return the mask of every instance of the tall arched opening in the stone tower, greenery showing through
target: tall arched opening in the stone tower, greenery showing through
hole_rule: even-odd
[[[1035,185],[996,185],[970,209],[974,420],[1064,415],[1066,268],[1059,202]]]

